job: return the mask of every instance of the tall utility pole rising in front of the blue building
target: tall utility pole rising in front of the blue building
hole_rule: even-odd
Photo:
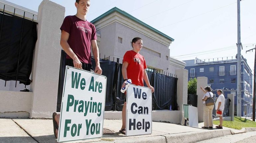
[[[241,31],[240,31],[240,0],[237,0],[237,110],[236,116],[241,117]]]

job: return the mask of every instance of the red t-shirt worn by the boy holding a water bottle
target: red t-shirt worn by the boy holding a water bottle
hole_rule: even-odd
[[[127,78],[132,80],[132,84],[144,86],[144,69],[147,68],[144,57],[131,50],[124,54],[123,62],[128,63]]]

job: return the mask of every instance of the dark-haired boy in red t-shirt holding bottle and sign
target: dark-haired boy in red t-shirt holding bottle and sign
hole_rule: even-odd
[[[125,86],[125,81],[127,79],[131,79],[132,83],[135,85],[144,86],[143,79],[145,80],[147,86],[151,88],[151,91],[154,92],[154,87],[150,85],[148,75],[146,72],[146,61],[144,57],[139,54],[142,49],[142,39],[140,37],[135,37],[132,39],[132,50],[127,51],[124,54],[123,58],[123,66],[122,66],[122,74],[124,78],[124,83],[122,87]],[[126,92],[125,92],[125,100],[124,106],[122,110],[122,127],[119,132],[125,134],[126,128]]]

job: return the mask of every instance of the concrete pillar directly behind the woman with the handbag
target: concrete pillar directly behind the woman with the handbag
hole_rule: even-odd
[[[203,102],[202,98],[204,96],[203,91],[200,89],[200,86],[203,88],[207,86],[207,77],[197,77],[196,84],[196,94],[197,94],[197,109],[198,109],[198,121],[203,121]]]

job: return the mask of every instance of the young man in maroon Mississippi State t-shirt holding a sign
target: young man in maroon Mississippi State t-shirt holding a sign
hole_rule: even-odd
[[[96,29],[86,20],[90,0],[76,0],[76,15],[65,17],[61,26],[61,46],[65,51],[65,66],[93,71],[91,66],[91,48],[95,59],[95,73],[101,74]],[[60,115],[53,113],[54,135],[58,137]]]

